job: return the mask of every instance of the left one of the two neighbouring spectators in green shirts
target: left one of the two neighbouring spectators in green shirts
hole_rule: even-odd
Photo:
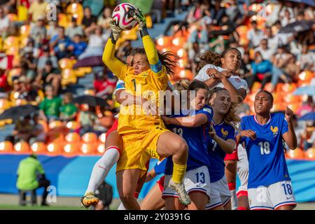
[[[45,86],[45,99],[39,104],[39,116],[46,122],[59,119],[62,99],[55,96],[52,85]]]

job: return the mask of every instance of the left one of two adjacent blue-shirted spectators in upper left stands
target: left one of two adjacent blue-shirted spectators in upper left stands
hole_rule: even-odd
[[[52,36],[50,47],[54,49],[58,59],[62,59],[68,55],[68,47],[71,44],[71,39],[64,34],[64,27],[58,27],[58,35]]]

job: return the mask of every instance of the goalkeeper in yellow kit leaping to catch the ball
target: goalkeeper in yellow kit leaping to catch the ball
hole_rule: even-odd
[[[167,89],[167,73],[172,74],[174,66],[167,54],[157,52],[146,29],[146,20],[141,10],[134,11],[134,19],[139,22],[144,48],[134,55],[132,66],[120,62],[115,55],[116,41],[122,29],[110,21],[111,38],[106,43],[103,61],[111,71],[125,82],[126,91],[141,95],[153,104],[158,104],[158,91]],[[141,50],[142,49],[142,50]],[[122,104],[123,105],[123,104]],[[119,113],[118,134],[123,139],[123,148],[118,160],[116,178],[120,200],[126,209],[140,209],[134,198],[134,190],[139,178],[146,172],[150,158],[172,156],[174,170],[169,187],[176,190],[183,204],[190,204],[190,197],[183,186],[186,172],[188,146],[179,135],[169,132],[158,115],[146,116],[142,107],[136,104],[122,106]]]

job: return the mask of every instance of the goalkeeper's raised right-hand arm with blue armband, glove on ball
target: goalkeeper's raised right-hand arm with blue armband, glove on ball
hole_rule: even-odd
[[[144,50],[146,51],[146,57],[148,57],[151,70],[154,73],[160,73],[160,71],[162,71],[162,64],[159,60],[158,51],[156,50],[155,44],[146,29],[146,18],[139,8],[138,11],[134,12],[134,19],[139,22],[140,36],[142,38],[142,42],[144,43]]]

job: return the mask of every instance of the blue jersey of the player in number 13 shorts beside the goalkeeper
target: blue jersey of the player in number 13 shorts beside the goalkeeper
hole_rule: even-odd
[[[167,125],[167,129],[172,132],[179,134],[183,139],[186,140],[188,144],[188,162],[187,169],[196,169],[202,166],[210,166],[209,153],[207,150],[209,144],[208,132],[209,124],[212,120],[213,110],[210,106],[204,106],[203,109],[198,111],[193,111],[190,116],[195,116],[197,114],[204,113],[208,118],[208,123],[199,127],[183,127],[179,125]],[[181,117],[181,116],[171,116],[171,117]],[[167,158],[167,165],[165,169],[165,174],[171,175],[173,173],[173,162],[172,157]]]

